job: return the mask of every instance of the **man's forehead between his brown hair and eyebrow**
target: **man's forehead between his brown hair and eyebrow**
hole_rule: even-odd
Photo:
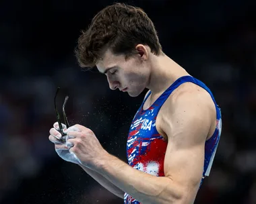
[[[125,57],[123,55],[115,55],[113,52],[111,52],[109,49],[104,52],[104,55],[102,57],[102,60],[100,60],[96,66],[100,72],[104,72],[106,68],[117,66],[121,62],[125,60]]]

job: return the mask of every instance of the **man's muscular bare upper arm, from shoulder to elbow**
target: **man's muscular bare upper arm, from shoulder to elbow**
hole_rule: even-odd
[[[163,128],[168,136],[168,146],[164,173],[186,193],[185,197],[195,198],[199,188],[205,139],[211,126],[210,112],[203,101],[193,98],[184,98],[174,109],[166,110]]]

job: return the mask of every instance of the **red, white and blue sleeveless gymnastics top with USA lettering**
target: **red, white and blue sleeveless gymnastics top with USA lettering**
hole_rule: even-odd
[[[166,89],[166,91],[164,91],[164,93],[162,93],[162,95],[160,95],[148,109],[143,110],[143,105],[150,95],[150,92],[148,93],[131,122],[127,138],[127,160],[129,165],[137,170],[147,172],[154,176],[164,176],[164,156],[167,148],[167,140],[165,140],[156,130],[156,117],[172,91],[177,89],[179,85],[187,82],[194,83],[205,89],[211,95],[216,106],[216,130],[212,137],[205,141],[205,160],[201,179],[202,183],[203,178],[209,176],[212,168],[212,162],[220,140],[222,117],[220,108],[210,89],[208,89],[204,83],[191,76],[184,76],[177,79],[177,81],[172,83],[172,85],[170,85],[170,87],[168,87],[168,89]],[[124,203],[140,204],[139,201],[136,201],[127,193],[124,195]]]

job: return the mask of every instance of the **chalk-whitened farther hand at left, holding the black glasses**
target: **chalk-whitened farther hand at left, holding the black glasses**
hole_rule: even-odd
[[[67,130],[66,125],[62,124],[63,131]],[[73,131],[79,131],[77,128],[72,128]],[[59,132],[59,124],[56,122],[53,124],[53,128],[50,130],[49,140],[55,144],[55,151],[57,154],[67,162],[73,162],[74,164],[80,164],[77,157],[72,152],[69,152],[71,144],[67,142],[71,136],[64,136],[61,138],[61,133]]]

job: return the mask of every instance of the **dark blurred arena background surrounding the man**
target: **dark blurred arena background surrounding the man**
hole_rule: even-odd
[[[119,1],[143,8],[164,52],[214,93],[223,130],[195,203],[256,203],[256,3],[247,0]],[[58,106],[127,162],[129,125],[143,95],[110,91],[73,50],[80,30],[113,1],[1,1],[0,203],[123,203],[49,142]]]

